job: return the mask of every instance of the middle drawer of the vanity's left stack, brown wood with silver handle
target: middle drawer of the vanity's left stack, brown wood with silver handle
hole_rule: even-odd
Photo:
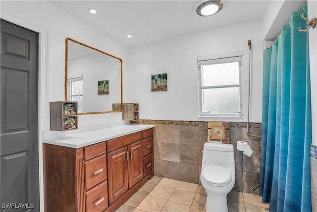
[[[85,190],[107,178],[106,154],[84,162]]]

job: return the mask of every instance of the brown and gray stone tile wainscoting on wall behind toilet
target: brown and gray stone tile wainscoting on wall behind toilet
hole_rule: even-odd
[[[204,143],[207,141],[208,122],[138,120],[133,124],[153,124],[155,176],[200,183]],[[259,123],[251,123],[249,134],[261,136]],[[247,141],[253,150],[249,158],[236,149],[236,141]],[[259,194],[261,138],[247,135],[247,123],[230,123],[230,142],[234,145],[236,183],[233,191]]]

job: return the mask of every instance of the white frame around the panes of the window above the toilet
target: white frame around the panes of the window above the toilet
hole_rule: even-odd
[[[234,117],[244,117],[243,114],[243,91],[242,91],[242,56],[243,52],[232,52],[219,55],[210,55],[197,57],[198,65],[198,79],[199,79],[199,117],[225,117],[225,118],[234,118]],[[203,70],[201,67],[203,63],[208,64],[221,64],[228,62],[239,62],[239,85],[219,85],[219,86],[206,86],[203,87]],[[204,89],[212,88],[225,88],[225,87],[239,87],[240,93],[240,111],[232,111],[232,113],[203,113],[203,91]]]

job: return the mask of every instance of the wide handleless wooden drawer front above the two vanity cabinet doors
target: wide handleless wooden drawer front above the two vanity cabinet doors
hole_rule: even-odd
[[[122,148],[136,141],[142,140],[142,132],[122,136],[117,139],[107,141],[107,152]]]

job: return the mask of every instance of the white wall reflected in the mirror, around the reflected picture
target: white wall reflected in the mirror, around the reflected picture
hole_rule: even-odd
[[[83,112],[111,111],[112,103],[121,102],[120,66],[118,59],[99,52],[69,60],[68,76],[83,74]],[[108,94],[98,95],[98,81],[101,80],[109,80]]]

